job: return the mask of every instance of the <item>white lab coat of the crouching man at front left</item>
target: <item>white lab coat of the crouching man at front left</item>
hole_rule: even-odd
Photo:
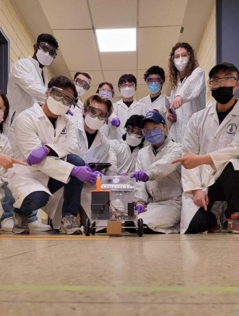
[[[43,145],[51,147],[59,157],[47,156],[33,166],[14,165],[8,170],[8,183],[15,199],[14,207],[20,208],[26,196],[31,192],[44,191],[50,194],[44,211],[52,218],[61,194],[51,194],[48,190],[49,178],[68,183],[73,165],[64,161],[66,156],[74,153],[79,155],[76,129],[68,115],[58,116],[56,129],[38,103],[23,111],[15,120],[14,136],[16,140],[16,159],[27,161],[32,150]],[[58,193],[59,193],[58,191]],[[52,198],[55,197],[55,200]]]

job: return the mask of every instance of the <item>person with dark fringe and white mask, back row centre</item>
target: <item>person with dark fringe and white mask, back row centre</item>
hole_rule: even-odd
[[[132,74],[124,74],[118,81],[119,92],[122,99],[113,104],[112,118],[118,118],[120,125],[117,129],[109,129],[107,138],[109,140],[120,140],[124,135],[124,125],[126,120],[133,114],[143,115],[146,114],[146,105],[134,100],[134,94],[137,89],[137,79]]]

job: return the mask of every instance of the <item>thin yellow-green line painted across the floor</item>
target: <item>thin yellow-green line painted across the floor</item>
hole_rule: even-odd
[[[131,286],[131,285],[0,285],[0,291],[71,291],[71,292],[181,292],[181,293],[239,293],[238,286]]]

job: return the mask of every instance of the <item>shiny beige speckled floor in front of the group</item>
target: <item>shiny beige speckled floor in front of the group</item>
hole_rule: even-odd
[[[238,235],[30,237],[0,235],[0,315],[239,315]]]

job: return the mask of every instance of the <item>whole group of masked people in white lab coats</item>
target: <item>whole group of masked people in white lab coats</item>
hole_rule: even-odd
[[[210,70],[214,102],[206,107],[203,69],[191,45],[178,42],[169,55],[170,96],[162,92],[165,71],[152,66],[145,98],[135,100],[137,79],[124,74],[120,101],[102,82],[83,103],[89,73],[47,79],[58,48],[40,34],[33,56],[12,66],[7,96],[0,93],[1,230],[81,234],[98,176],[130,174],[147,233],[216,233],[226,221],[239,233],[238,68]],[[110,166],[99,172],[98,163]],[[38,209],[51,226],[38,221]]]

